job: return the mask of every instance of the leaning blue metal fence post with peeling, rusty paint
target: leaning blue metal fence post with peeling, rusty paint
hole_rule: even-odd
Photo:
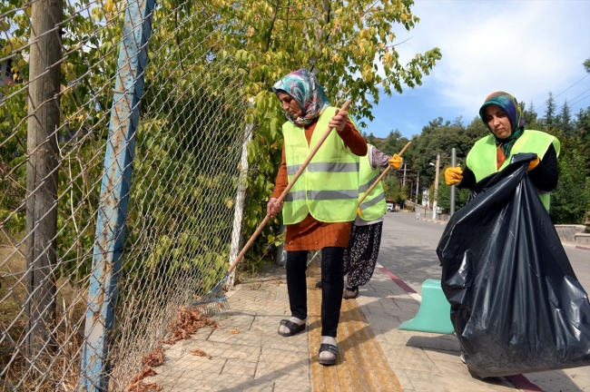
[[[108,387],[108,352],[153,8],[153,0],[132,0],[127,5],[123,21],[123,41],[119,49],[94,240],[81,390],[103,391]]]

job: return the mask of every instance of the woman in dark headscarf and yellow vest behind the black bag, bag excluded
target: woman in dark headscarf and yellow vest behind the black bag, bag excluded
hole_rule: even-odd
[[[488,175],[501,171],[519,152],[534,152],[528,178],[549,210],[550,192],[557,185],[559,140],[546,132],[525,130],[525,119],[516,98],[509,93],[492,93],[479,109],[479,116],[492,134],[478,140],[467,154],[467,168],[448,168],[447,185],[471,188]]]

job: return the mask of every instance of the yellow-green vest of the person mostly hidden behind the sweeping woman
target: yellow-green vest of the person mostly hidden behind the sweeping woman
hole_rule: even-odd
[[[370,151],[369,145],[369,151]],[[368,154],[369,155],[369,154]],[[379,168],[373,170],[369,163],[369,156],[360,158],[360,172],[359,172],[359,200],[369,191],[369,188],[379,177]],[[383,184],[379,181],[379,184],[373,188],[373,191],[365,198],[360,204],[360,211],[362,212],[359,217],[361,220],[371,221],[378,220],[381,218],[386,211],[388,211],[388,205],[385,202],[385,190]]]

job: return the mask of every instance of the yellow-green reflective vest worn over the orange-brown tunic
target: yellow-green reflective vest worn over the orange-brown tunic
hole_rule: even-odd
[[[326,132],[335,113],[336,108],[333,107],[321,113],[311,135],[310,145],[302,127],[291,122],[283,124],[289,181]],[[283,224],[300,222],[308,213],[316,220],[329,223],[354,220],[358,203],[359,157],[346,148],[336,131],[332,131],[285,198]]]

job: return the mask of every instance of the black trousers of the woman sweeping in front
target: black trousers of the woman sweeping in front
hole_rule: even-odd
[[[287,252],[287,291],[291,316],[308,317],[308,292],[305,279],[307,250]],[[321,250],[321,336],[336,338],[342,290],[344,289],[344,248]]]

